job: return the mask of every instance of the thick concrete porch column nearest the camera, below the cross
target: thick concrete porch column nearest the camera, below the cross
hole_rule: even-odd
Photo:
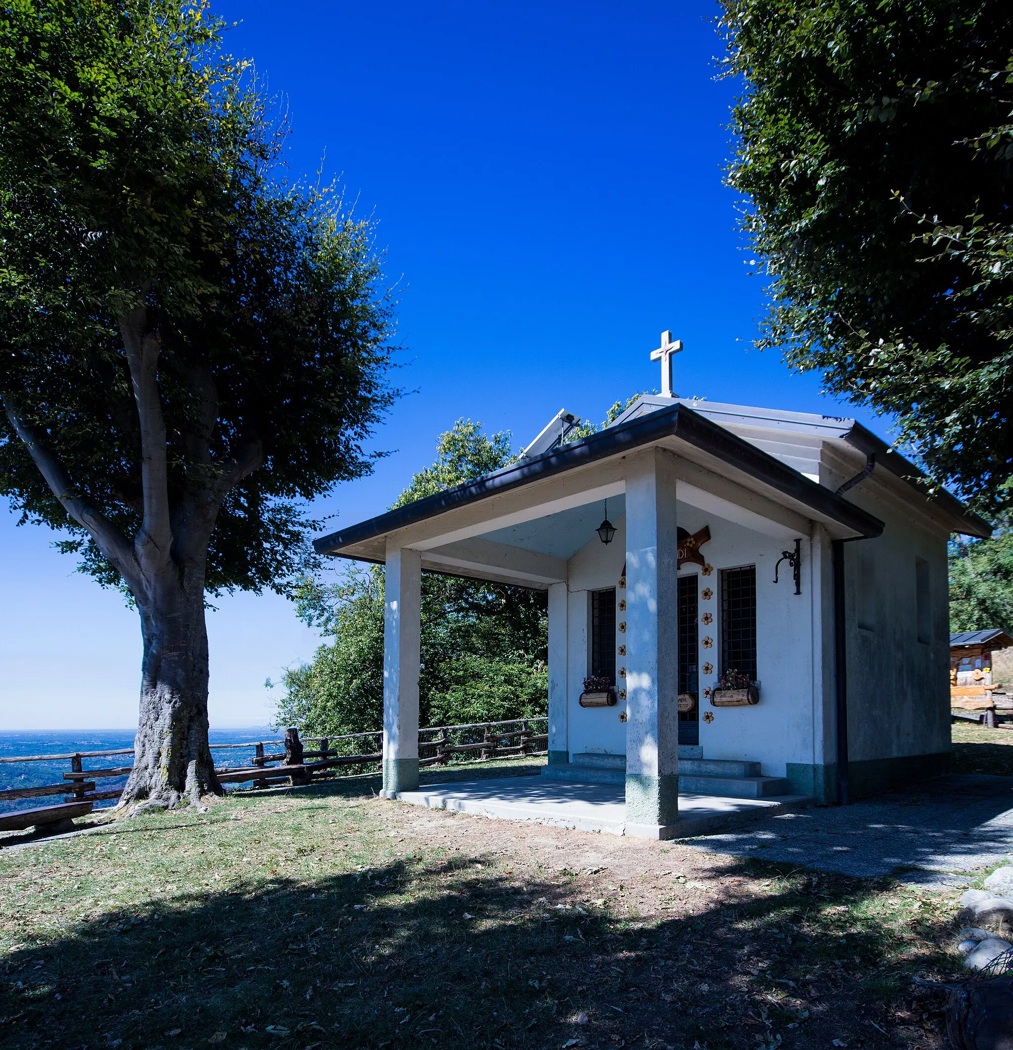
[[[679,813],[675,488],[671,453],[653,448],[631,457],[626,479],[626,834],[640,838],[672,837]]]

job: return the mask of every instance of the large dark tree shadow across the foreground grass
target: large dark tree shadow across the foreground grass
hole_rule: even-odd
[[[952,959],[931,922],[913,932],[921,954],[899,959],[882,919],[863,918],[882,881],[730,861],[715,874],[765,877],[768,896],[633,923],[586,900],[579,877],[520,884],[498,865],[408,858],[172,901],[153,889],[143,910],[16,946],[0,1038],[19,1050],[937,1042],[930,1007],[911,1011],[910,976]]]

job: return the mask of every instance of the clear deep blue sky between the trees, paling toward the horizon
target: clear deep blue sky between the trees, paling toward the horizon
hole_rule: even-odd
[[[763,289],[721,184],[734,86],[715,79],[716,6],[229,0],[227,45],[283,98],[291,175],[321,160],[379,223],[399,289],[392,452],[320,510],[389,505],[460,417],[529,441],[566,407],[599,421],[659,383],[671,329],[682,395],[858,415],[750,350]],[[8,729],[135,724],[141,638],[117,594],[44,530],[0,512],[0,696]],[[213,726],[270,717],[267,677],[318,644],[273,595],[209,615]]]

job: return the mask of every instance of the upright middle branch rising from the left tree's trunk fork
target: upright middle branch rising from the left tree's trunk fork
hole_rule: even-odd
[[[159,353],[162,339],[148,326],[144,306],[120,318],[120,332],[130,368],[133,399],[141,423],[141,486],[144,512],[134,540],[145,572],[164,565],[172,556],[172,522],[169,507],[169,470],[166,454],[165,416],[159,396]]]

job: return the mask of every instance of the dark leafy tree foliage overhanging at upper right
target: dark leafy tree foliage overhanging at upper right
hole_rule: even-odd
[[[723,0],[760,346],[1013,502],[1013,5]]]

